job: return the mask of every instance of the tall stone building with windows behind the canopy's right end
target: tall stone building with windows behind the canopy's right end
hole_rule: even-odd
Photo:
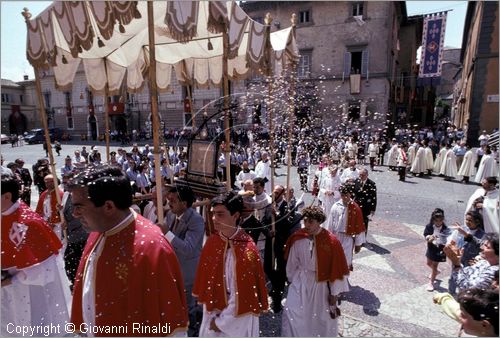
[[[319,100],[310,108],[324,126],[381,129],[397,118],[398,105],[408,106],[408,97],[400,102],[395,94],[416,64],[421,18],[409,20],[404,2],[248,1],[242,7],[257,21],[271,13],[273,30],[297,14],[299,86],[316,91],[311,96]]]

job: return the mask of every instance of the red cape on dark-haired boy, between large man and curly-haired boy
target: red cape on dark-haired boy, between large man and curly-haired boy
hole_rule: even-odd
[[[267,289],[259,251],[252,238],[241,229],[231,240],[218,234],[208,238],[198,263],[193,295],[208,311],[222,311],[227,307],[224,266],[228,246],[236,256],[236,315],[259,315],[267,311]]]

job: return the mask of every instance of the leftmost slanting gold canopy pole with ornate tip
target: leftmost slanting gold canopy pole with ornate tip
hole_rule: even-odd
[[[31,18],[31,13],[28,8],[24,8],[24,11],[21,13],[26,22],[26,26],[28,25],[28,21]],[[57,181],[56,174],[56,163],[54,162],[54,153],[52,152],[52,144],[50,143],[50,134],[49,134],[49,126],[47,123],[47,113],[45,112],[45,104],[42,95],[42,84],[40,82],[40,75],[38,74],[39,68],[33,67],[35,73],[35,88],[36,88],[36,96],[38,99],[38,107],[40,109],[40,118],[42,120],[43,130],[45,134],[45,144],[47,145],[47,154],[49,154],[49,164],[52,172],[52,177],[54,179],[54,189],[56,190],[56,200],[57,204],[61,205],[61,196],[58,193],[59,190],[59,182]],[[59,208],[59,217],[61,222],[64,222],[64,214],[62,208]],[[66,231],[63,231],[64,237],[66,237]]]

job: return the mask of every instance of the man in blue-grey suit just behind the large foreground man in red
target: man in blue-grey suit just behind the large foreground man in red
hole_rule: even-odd
[[[191,207],[195,197],[190,187],[170,188],[167,200],[170,210],[160,227],[179,260],[188,305],[188,335],[193,336],[197,335],[200,323],[196,320],[196,300],[191,292],[203,246],[205,223],[203,217]]]

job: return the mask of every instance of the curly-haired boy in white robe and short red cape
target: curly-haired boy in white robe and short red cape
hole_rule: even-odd
[[[320,207],[302,210],[304,228],[286,245],[286,272],[290,286],[285,302],[281,335],[288,337],[338,336],[337,297],[349,291],[349,269],[338,239],[321,228]]]

